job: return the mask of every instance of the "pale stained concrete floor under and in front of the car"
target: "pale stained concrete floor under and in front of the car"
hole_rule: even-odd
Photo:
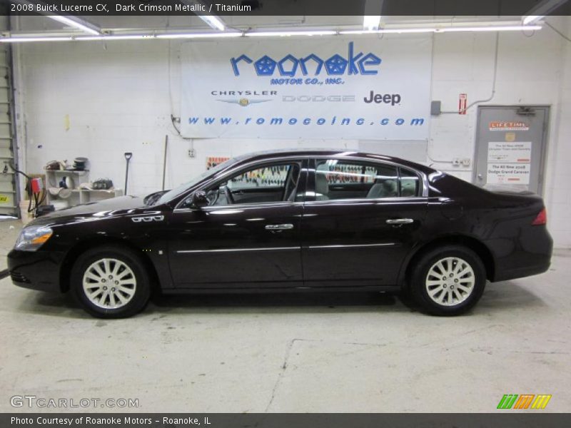
[[[1,256],[18,229],[0,223]],[[138,398],[140,412],[494,412],[503,394],[552,394],[542,412],[568,412],[570,263],[557,251],[550,272],[490,284],[455,318],[389,295],[290,294],[160,297],[107,321],[6,278],[0,412],[16,394]]]

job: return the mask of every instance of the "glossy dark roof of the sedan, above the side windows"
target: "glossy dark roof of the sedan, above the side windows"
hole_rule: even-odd
[[[365,153],[358,150],[340,149],[340,148],[284,148],[277,150],[266,150],[266,151],[256,151],[253,153],[247,153],[234,158],[236,161],[235,165],[238,163],[246,163],[251,161],[263,161],[271,160],[273,158],[282,158],[290,156],[300,156],[300,157],[311,157],[311,156],[331,156],[334,158],[358,158],[363,161],[386,161],[392,163],[398,163],[403,166],[409,166],[410,168],[415,168],[422,171],[423,173],[430,174],[434,173],[436,170],[430,168],[426,165],[420,163],[415,163],[412,161],[407,161],[402,158],[395,158],[393,156],[384,156],[375,153]]]

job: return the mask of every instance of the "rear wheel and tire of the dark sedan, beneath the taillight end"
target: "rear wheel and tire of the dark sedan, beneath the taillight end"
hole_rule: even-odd
[[[485,266],[473,250],[444,245],[415,261],[410,294],[433,315],[460,315],[480,300],[485,284]]]

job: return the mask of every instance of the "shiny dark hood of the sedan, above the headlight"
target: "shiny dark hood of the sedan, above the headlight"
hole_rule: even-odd
[[[119,198],[104,199],[98,202],[84,203],[36,218],[31,224],[47,225],[64,223],[73,218],[109,218],[135,212],[138,209],[146,209],[143,198],[140,196],[121,196]]]

